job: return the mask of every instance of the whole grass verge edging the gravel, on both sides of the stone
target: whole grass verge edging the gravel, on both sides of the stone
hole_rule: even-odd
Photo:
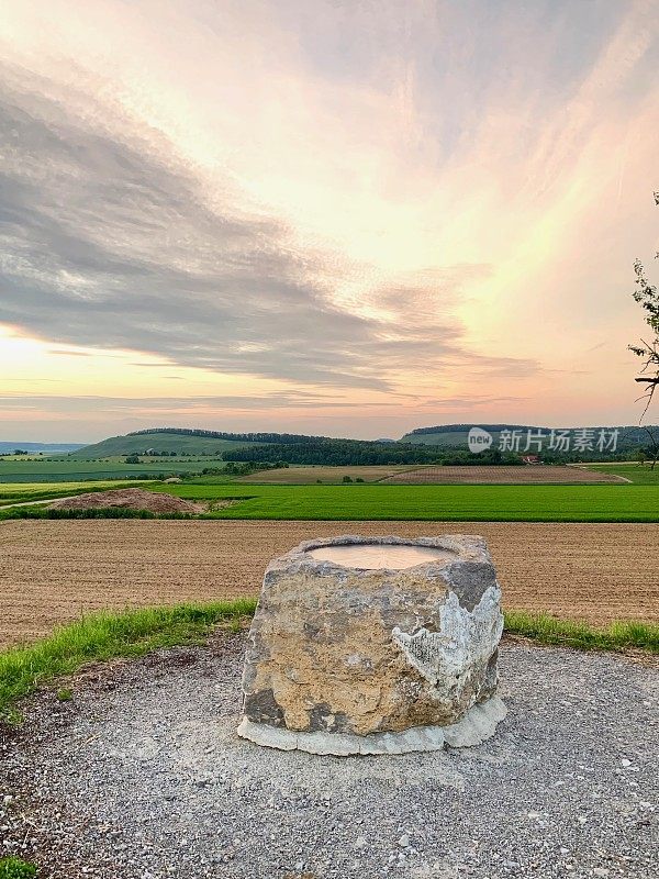
[[[11,722],[16,700],[88,663],[143,656],[158,647],[203,643],[214,625],[223,621],[237,625],[255,609],[255,600],[241,599],[121,614],[98,613],[62,626],[36,644],[0,653],[0,719]],[[659,654],[659,625],[652,623],[613,623],[607,628],[594,628],[588,623],[557,620],[544,613],[507,611],[505,632],[577,649],[640,649]]]

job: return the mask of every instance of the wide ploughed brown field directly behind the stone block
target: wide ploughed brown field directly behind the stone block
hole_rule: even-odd
[[[103,608],[256,596],[272,556],[350,532],[483,534],[506,608],[659,622],[654,524],[15,521],[0,525],[0,646]]]

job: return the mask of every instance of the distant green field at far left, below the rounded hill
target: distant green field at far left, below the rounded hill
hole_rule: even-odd
[[[125,464],[123,458],[80,460],[68,455],[47,460],[0,459],[0,485],[7,482],[74,482],[105,480],[141,474],[200,474],[204,467],[224,467],[215,458],[143,458],[142,464]]]

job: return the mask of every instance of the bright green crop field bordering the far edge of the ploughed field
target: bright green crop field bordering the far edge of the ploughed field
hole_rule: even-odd
[[[149,486],[200,501],[241,499],[221,519],[657,522],[652,486]],[[245,500],[242,500],[245,499]]]

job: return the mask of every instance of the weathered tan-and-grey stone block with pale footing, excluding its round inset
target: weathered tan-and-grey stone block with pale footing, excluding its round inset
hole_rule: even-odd
[[[437,558],[392,570],[310,555],[373,543],[420,545]],[[287,749],[403,753],[442,747],[451,737],[448,727],[465,720],[468,732],[454,732],[449,744],[482,741],[504,711],[491,699],[500,598],[481,537],[348,535],[300,544],[266,571],[249,633],[239,733]],[[488,710],[468,721],[470,709],[484,703]],[[388,735],[396,741],[384,746]]]

